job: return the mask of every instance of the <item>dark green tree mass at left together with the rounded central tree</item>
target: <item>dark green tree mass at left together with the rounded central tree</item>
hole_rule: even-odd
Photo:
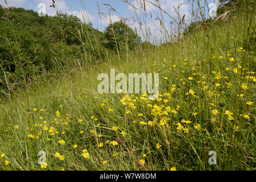
[[[102,60],[105,51],[116,49],[110,26],[103,33],[94,29],[92,23],[81,23],[79,18],[67,13],[39,17],[32,10],[4,9],[1,6],[0,17],[3,25],[0,27],[2,94],[6,90],[14,92],[17,87],[26,86],[32,77],[39,76],[41,72],[68,71],[73,63],[65,61],[67,57],[82,57],[82,61],[96,64],[95,60]],[[118,47],[125,43],[126,35],[129,35],[129,47],[135,47],[139,38],[130,27],[119,22],[114,23],[113,27]]]

